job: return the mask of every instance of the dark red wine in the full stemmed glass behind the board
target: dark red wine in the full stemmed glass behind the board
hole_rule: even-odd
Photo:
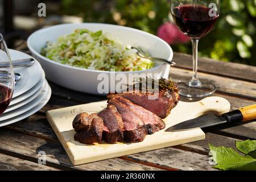
[[[209,16],[206,6],[182,5],[173,10],[174,21],[183,34],[192,38],[201,38],[214,27],[218,15]]]

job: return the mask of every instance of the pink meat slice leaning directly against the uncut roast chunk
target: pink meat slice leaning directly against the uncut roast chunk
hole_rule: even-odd
[[[166,127],[166,124],[163,122],[161,118],[159,118],[156,114],[151,111],[141,107],[139,105],[133,104],[133,102],[127,100],[123,97],[114,97],[113,100],[117,100],[122,102],[126,106],[128,106],[134,113],[136,113],[146,125],[148,134],[153,134],[156,131],[162,130]]]

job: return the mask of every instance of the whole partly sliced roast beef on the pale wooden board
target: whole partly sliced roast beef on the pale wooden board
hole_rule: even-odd
[[[77,132],[75,140],[92,144],[104,139],[107,143],[144,140],[147,134],[162,130],[166,118],[179,101],[177,86],[172,81],[159,79],[159,94],[124,92],[108,94],[108,106],[100,113],[77,115],[72,123]],[[141,84],[139,82],[139,84]],[[153,95],[154,94],[154,95]],[[152,97],[156,96],[152,100]]]

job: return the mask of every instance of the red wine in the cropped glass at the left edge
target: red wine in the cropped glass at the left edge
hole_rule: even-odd
[[[2,114],[10,104],[13,92],[5,85],[0,85],[0,114]]]

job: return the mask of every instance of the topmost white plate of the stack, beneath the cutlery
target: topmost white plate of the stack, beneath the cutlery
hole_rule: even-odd
[[[26,53],[13,49],[9,49],[9,53],[11,60],[33,58]],[[35,86],[40,78],[44,77],[43,69],[37,60],[35,60],[35,64],[31,67],[14,68],[14,72],[19,73],[21,75],[21,79],[14,86],[13,98],[20,96],[21,94],[30,90],[33,86]]]

